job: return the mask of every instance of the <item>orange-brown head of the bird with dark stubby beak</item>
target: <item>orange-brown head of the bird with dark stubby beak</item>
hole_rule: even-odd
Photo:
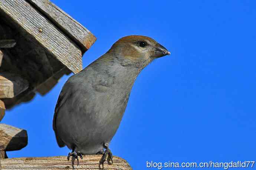
[[[135,64],[144,68],[156,58],[169,55],[170,52],[154,39],[147,36],[126,36],[113,44],[108,53],[125,60],[127,65]]]

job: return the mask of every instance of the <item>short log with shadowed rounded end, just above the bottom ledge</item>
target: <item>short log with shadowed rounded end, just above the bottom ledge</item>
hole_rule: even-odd
[[[20,150],[27,146],[27,131],[1,123],[0,139],[0,150]]]

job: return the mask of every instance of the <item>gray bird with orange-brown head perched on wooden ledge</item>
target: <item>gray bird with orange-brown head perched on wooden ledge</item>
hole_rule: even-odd
[[[147,36],[125,36],[89,66],[69,77],[60,91],[53,116],[59,147],[71,152],[72,167],[82,155],[102,154],[113,163],[109,144],[127,107],[132,86],[142,69],[170,52]]]

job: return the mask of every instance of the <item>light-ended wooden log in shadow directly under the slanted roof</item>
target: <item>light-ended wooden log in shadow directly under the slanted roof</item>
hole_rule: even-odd
[[[18,74],[0,73],[0,98],[13,98],[29,87]]]

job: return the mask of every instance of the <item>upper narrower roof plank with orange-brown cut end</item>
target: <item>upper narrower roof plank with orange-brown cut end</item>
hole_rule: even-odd
[[[88,50],[96,41],[96,37],[78,21],[61,10],[49,0],[27,0],[36,9],[45,14],[47,18],[58,26],[65,34],[78,43],[83,51]]]

